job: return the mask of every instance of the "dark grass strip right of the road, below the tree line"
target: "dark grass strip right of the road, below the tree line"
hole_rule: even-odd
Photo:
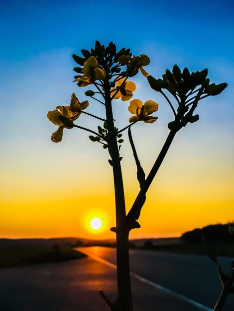
[[[218,242],[211,243],[211,246],[217,256],[234,257],[234,243]],[[205,246],[202,243],[171,243],[137,248],[177,254],[206,255]]]

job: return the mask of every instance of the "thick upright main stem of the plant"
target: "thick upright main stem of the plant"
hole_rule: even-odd
[[[108,77],[108,74],[107,74]],[[123,224],[126,218],[125,199],[122,180],[122,171],[118,153],[116,129],[113,120],[111,86],[109,79],[104,80],[105,103],[108,123],[109,144],[114,174],[115,200],[116,200],[116,225],[117,225],[117,287],[119,311],[133,311],[130,283],[130,267],[128,254],[128,234]]]

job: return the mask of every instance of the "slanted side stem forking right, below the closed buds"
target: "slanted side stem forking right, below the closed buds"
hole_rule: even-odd
[[[153,164],[153,167],[151,168],[147,178],[145,179],[145,189],[144,189],[145,193],[147,192],[147,190],[148,190],[151,182],[153,181],[164,157],[166,156],[166,153],[167,153],[176,133],[177,133],[177,131],[172,131],[172,130],[169,132],[167,139],[166,139],[166,141],[162,147],[162,150],[160,151],[160,154],[158,155],[155,163]],[[139,202],[141,201],[141,198],[142,198],[142,190],[139,191],[130,211],[128,212],[128,214],[126,216],[126,220],[128,223],[139,218],[140,210],[138,209],[138,205],[139,205]]]

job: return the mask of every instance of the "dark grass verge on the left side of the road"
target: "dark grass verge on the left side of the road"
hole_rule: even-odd
[[[84,257],[87,257],[87,255],[69,247],[58,249],[3,248],[0,249],[0,268],[47,262],[63,262]]]

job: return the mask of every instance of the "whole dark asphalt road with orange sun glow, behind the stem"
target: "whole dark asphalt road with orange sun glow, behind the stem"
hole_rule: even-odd
[[[104,310],[105,302],[98,289],[103,289],[111,300],[117,298],[115,249],[89,247],[83,251],[92,256],[0,269],[0,311]],[[130,250],[130,260],[131,271],[135,273],[134,311],[201,311],[188,298],[213,307],[219,295],[215,266],[206,257]],[[228,267],[231,259],[221,261]],[[155,283],[172,292],[155,287]],[[174,293],[184,295],[187,300]],[[224,311],[234,311],[233,297]]]

